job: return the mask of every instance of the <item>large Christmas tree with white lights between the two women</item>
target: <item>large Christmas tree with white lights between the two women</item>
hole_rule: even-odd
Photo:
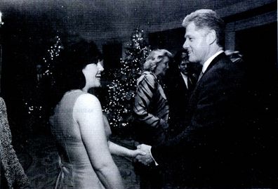
[[[131,124],[136,81],[140,77],[141,65],[150,53],[150,46],[143,36],[143,30],[135,29],[131,35],[125,58],[121,67],[113,73],[113,80],[108,84],[108,102],[103,108],[112,127],[126,127]]]

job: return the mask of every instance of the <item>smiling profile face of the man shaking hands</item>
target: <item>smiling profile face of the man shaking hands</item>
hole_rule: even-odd
[[[206,61],[206,55],[209,52],[207,34],[208,30],[197,28],[194,22],[190,22],[187,25],[183,48],[187,49],[191,63],[200,63],[203,65]]]

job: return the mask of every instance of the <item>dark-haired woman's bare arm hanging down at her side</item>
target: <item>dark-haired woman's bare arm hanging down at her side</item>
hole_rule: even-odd
[[[74,105],[74,119],[93,169],[105,188],[124,188],[119,169],[112,159],[105,136],[102,109],[98,98],[91,94],[79,96]]]

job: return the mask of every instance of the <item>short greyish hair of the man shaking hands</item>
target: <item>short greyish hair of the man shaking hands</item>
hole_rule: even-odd
[[[225,43],[225,22],[210,9],[200,9],[190,13],[183,20],[183,27],[187,27],[190,22],[194,22],[198,29],[209,28],[216,31],[216,42],[219,46]]]

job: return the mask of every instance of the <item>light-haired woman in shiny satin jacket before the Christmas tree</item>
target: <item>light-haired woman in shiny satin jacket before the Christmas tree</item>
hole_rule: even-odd
[[[143,64],[135,93],[135,128],[137,141],[157,145],[164,141],[168,129],[169,107],[161,79],[168,70],[172,54],[165,49],[150,52]],[[155,166],[140,167],[141,188],[161,188],[161,174]]]

